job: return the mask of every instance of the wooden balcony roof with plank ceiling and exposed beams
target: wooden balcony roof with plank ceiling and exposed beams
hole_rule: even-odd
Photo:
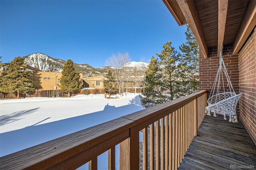
[[[255,0],[163,0],[178,25],[189,24],[199,47],[233,43],[237,54],[256,26]]]

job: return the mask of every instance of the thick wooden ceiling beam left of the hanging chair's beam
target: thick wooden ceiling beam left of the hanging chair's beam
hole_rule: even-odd
[[[177,2],[188,22],[188,25],[191,28],[191,31],[193,32],[198,42],[200,49],[204,53],[204,57],[207,57],[208,47],[204,37],[204,32],[202,30],[201,22],[198,16],[195,1],[194,0],[177,0]]]

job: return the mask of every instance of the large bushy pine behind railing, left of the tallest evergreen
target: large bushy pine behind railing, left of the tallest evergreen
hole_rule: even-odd
[[[187,95],[184,88],[185,69],[180,55],[172,47],[172,42],[164,43],[159,57],[151,58],[146,71],[145,92],[142,93],[141,103],[144,107],[151,107]]]

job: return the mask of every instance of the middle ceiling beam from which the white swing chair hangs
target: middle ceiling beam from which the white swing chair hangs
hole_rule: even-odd
[[[228,12],[228,0],[219,0],[218,12],[218,56],[220,55],[220,44],[223,45],[226,18]]]

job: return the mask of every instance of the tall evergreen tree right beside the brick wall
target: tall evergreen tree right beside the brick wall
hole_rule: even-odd
[[[188,66],[186,69],[186,88],[191,94],[199,90],[199,46],[188,25],[185,34],[187,41],[180,46],[180,51],[182,51],[185,65]]]

